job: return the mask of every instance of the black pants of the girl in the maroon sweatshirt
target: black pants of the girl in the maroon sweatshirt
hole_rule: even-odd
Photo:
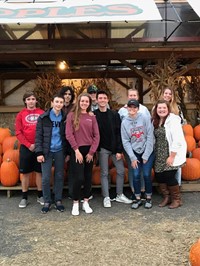
[[[76,162],[74,150],[71,153],[70,167],[73,178],[73,200],[80,200],[82,185],[84,198],[88,199],[90,197],[93,161],[88,163],[85,158],[89,150],[90,146],[79,147],[79,151],[83,155],[83,163]]]

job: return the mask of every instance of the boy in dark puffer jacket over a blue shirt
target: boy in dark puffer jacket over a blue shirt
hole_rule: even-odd
[[[50,187],[52,164],[55,167],[53,201],[57,211],[64,211],[62,192],[67,142],[65,139],[63,105],[63,96],[54,95],[51,102],[52,107],[38,118],[36,127],[35,152],[38,162],[42,165],[42,191],[44,196],[42,213],[47,213],[52,204]]]

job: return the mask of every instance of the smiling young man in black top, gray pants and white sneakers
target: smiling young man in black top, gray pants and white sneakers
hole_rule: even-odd
[[[111,207],[109,196],[108,158],[111,157],[117,170],[116,201],[132,203],[124,194],[124,163],[122,159],[122,141],[120,133],[121,120],[117,112],[108,109],[108,94],[106,91],[97,92],[99,109],[94,111],[100,132],[99,165],[101,171],[101,187],[104,197],[103,206]]]

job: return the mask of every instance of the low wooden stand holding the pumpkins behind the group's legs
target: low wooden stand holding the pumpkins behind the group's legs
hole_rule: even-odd
[[[115,187],[115,184],[111,184],[111,187]],[[128,187],[129,184],[124,184],[124,187]],[[153,186],[157,186],[156,182],[153,182]],[[92,185],[93,188],[100,188],[101,185]],[[7,197],[10,198],[12,196],[12,191],[21,190],[21,184],[17,184],[13,187],[5,187],[0,184],[0,190],[7,191]],[[29,190],[36,190],[36,187],[30,187]],[[64,186],[64,189],[68,189],[68,186]],[[200,192],[200,180],[194,181],[182,181],[181,192]]]

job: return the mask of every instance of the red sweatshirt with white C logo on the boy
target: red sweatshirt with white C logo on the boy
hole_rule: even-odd
[[[15,134],[19,142],[27,148],[35,143],[37,119],[43,113],[44,111],[40,108],[33,110],[24,108],[16,116]]]

